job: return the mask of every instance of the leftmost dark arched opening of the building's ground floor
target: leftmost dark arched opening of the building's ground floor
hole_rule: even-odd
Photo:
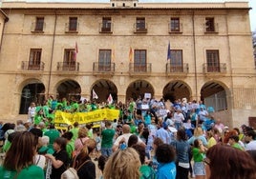
[[[43,104],[45,101],[45,86],[39,80],[30,80],[21,92],[19,114],[27,114],[32,102]]]

